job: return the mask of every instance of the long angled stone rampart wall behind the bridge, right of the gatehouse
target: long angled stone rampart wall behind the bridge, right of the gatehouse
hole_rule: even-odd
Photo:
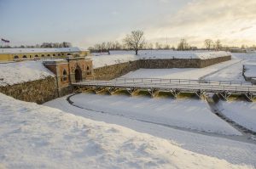
[[[227,60],[231,56],[224,56],[213,59],[140,59],[122,64],[108,65],[94,70],[94,77],[97,80],[110,80],[124,76],[130,71],[143,69],[170,69],[170,68],[203,68],[215,65]]]

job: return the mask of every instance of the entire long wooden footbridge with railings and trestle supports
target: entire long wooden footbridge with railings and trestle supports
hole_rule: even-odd
[[[123,89],[130,94],[136,90],[146,90],[151,96],[158,92],[169,92],[175,98],[179,93],[195,93],[200,98],[205,93],[217,93],[224,100],[227,100],[232,94],[242,94],[248,101],[256,99],[256,85],[241,81],[116,78],[110,81],[86,80],[73,82],[73,86],[91,88],[96,93],[103,89],[107,89],[109,93]]]

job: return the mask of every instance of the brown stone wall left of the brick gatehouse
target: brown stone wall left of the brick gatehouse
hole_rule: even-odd
[[[55,77],[0,87],[0,93],[38,104],[43,104],[58,97]]]

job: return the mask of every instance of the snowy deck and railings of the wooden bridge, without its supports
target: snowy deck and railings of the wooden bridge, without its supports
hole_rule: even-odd
[[[179,90],[184,92],[211,92],[211,93],[250,93],[256,95],[256,86],[240,81],[206,81],[189,79],[150,79],[150,78],[117,78],[111,81],[84,81],[74,82],[76,87],[115,87],[157,89],[162,91]]]

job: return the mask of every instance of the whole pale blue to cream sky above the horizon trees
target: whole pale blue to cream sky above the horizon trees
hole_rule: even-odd
[[[147,42],[185,38],[256,45],[255,0],[0,0],[0,38],[11,46],[72,42],[88,48],[142,30]]]

